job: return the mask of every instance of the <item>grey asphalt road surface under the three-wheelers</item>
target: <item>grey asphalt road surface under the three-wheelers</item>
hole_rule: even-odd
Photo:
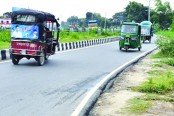
[[[70,116],[103,77],[153,47],[124,52],[113,42],[56,53],[41,67],[27,59],[0,63],[0,116]]]

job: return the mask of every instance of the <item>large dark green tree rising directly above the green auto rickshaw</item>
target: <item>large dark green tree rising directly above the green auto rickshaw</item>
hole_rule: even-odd
[[[128,6],[125,8],[125,14],[127,21],[141,22],[147,20],[148,18],[148,8],[143,6],[141,3],[135,1],[129,2]]]

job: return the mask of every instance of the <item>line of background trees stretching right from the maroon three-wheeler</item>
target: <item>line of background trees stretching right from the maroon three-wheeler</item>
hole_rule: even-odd
[[[155,0],[155,6],[155,9],[150,9],[150,21],[157,30],[168,29],[174,19],[174,11],[172,11],[170,3],[168,1],[162,3],[161,0]],[[104,28],[105,24],[107,28],[117,27],[125,21],[135,21],[140,23],[141,21],[148,20],[148,6],[144,6],[135,1],[130,1],[124,11],[115,13],[112,18],[108,19],[102,17],[100,13],[87,12],[85,18],[71,16],[66,22],[62,21],[61,26],[67,27],[68,25],[78,25],[79,27],[87,27],[87,22],[89,20],[97,20],[98,27],[101,28]]]

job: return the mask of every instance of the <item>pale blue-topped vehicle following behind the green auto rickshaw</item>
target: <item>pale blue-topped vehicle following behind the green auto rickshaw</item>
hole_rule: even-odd
[[[150,21],[142,21],[141,23],[141,38],[143,43],[148,40],[151,43],[151,37],[153,36],[152,32],[152,23]]]

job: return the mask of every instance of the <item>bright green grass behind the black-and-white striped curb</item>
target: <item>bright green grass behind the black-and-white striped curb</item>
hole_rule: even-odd
[[[76,42],[82,40],[99,39],[106,37],[116,37],[119,32],[102,32],[97,34],[96,30],[90,30],[89,32],[66,32],[60,31],[60,42]],[[10,30],[0,31],[0,49],[6,49],[10,46]]]

